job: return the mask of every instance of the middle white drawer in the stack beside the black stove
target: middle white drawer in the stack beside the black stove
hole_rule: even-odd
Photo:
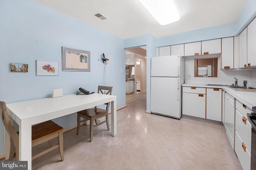
[[[246,123],[246,124],[245,124]],[[236,110],[236,132],[246,145],[249,153],[251,154],[251,142],[252,142],[252,125],[248,120]],[[235,142],[236,143],[236,142]]]

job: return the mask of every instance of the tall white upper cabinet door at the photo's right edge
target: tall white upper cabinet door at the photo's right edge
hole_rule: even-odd
[[[247,26],[247,67],[256,66],[256,19]]]

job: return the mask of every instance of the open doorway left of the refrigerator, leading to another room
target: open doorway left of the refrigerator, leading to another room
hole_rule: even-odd
[[[146,46],[126,49],[126,105],[146,97]]]

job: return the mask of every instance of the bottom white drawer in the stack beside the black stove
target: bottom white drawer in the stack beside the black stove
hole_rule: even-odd
[[[238,135],[236,131],[236,144],[235,144],[235,151],[236,155],[242,165],[242,168],[244,170],[250,170],[251,169],[251,155],[248,152],[248,149],[242,147],[242,139]]]

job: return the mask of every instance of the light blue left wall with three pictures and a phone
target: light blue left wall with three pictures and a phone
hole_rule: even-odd
[[[106,85],[113,86],[117,108],[125,106],[125,50],[123,40],[67,16],[35,0],[0,1],[0,100],[6,103],[51,97],[53,89],[64,95],[78,87],[97,91],[102,85],[102,53]],[[61,47],[90,51],[91,71],[62,71]],[[36,60],[58,61],[58,76],[36,76]],[[98,61],[99,59],[99,61]],[[28,73],[11,73],[10,63],[28,63]],[[76,124],[76,115],[56,120],[62,127]],[[28,140],[29,141],[29,140]],[[0,153],[4,152],[4,126],[0,121]]]

